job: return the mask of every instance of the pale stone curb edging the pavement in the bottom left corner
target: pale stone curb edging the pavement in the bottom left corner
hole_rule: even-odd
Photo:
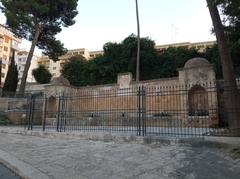
[[[21,179],[50,179],[49,176],[38,169],[3,150],[0,150],[0,162],[20,176]]]

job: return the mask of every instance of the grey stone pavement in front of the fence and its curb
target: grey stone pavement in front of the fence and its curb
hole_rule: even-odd
[[[240,176],[223,149],[144,145],[0,133],[0,150],[56,179],[159,179]]]

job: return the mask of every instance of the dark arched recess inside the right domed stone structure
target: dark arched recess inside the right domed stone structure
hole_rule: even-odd
[[[188,93],[189,116],[208,116],[208,95],[200,86],[193,86]]]

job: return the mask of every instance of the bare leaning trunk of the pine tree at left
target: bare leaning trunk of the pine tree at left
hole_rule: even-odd
[[[22,79],[21,79],[21,84],[20,84],[20,88],[19,88],[19,94],[20,95],[23,95],[24,92],[25,92],[28,70],[29,70],[30,65],[31,65],[31,60],[32,60],[32,57],[33,57],[34,49],[37,45],[39,35],[40,35],[40,28],[36,27],[36,32],[35,32],[35,35],[34,35],[34,39],[32,41],[32,45],[31,45],[30,51],[28,53],[27,61],[26,61],[24,71],[23,71],[23,76],[22,76]]]

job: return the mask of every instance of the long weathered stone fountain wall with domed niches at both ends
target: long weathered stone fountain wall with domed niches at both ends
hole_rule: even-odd
[[[190,59],[179,69],[179,76],[141,81],[136,84],[130,73],[119,74],[118,83],[111,85],[72,87],[63,77],[44,86],[49,123],[58,110],[65,110],[69,119],[136,118],[138,93],[143,87],[146,118],[166,119],[166,124],[178,122],[184,126],[218,125],[218,96],[214,66],[206,59]],[[59,106],[59,97],[64,103]],[[113,122],[111,121],[111,122]],[[152,121],[154,123],[154,121]],[[207,124],[207,126],[206,126]],[[205,125],[205,126],[204,126]]]

